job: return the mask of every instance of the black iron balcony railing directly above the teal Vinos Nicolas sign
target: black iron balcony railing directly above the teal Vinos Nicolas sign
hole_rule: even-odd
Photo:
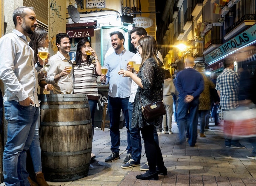
[[[246,20],[256,20],[256,14],[252,14],[255,12],[250,12],[250,8],[248,8],[248,3],[246,0],[239,1],[233,7],[230,8],[229,12],[225,15],[225,28],[226,34],[231,30],[236,28],[239,24]],[[252,7],[255,7],[255,1],[252,1]],[[253,9],[255,10],[255,8]]]

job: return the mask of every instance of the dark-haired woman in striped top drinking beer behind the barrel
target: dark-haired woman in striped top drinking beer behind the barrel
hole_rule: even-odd
[[[94,56],[95,59],[92,62],[89,61],[90,56],[86,52]],[[91,48],[90,40],[84,38],[78,42],[73,69],[74,93],[87,94],[92,117],[92,133],[94,134],[94,113],[99,100],[97,76],[101,75],[101,65],[95,50]]]

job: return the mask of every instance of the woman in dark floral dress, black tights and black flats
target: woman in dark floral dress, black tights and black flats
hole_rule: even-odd
[[[137,76],[126,70],[120,70],[118,73],[123,74],[123,77],[130,77],[139,86],[133,103],[131,127],[138,127],[141,131],[149,171],[137,175],[136,178],[158,180],[158,174],[167,175],[167,169],[163,164],[160,147],[156,144],[153,135],[155,127],[162,124],[162,117],[158,117],[152,121],[146,120],[142,114],[141,103],[147,105],[163,99],[162,85],[164,82],[164,69],[163,64],[156,57],[156,40],[152,36],[145,36],[138,43],[139,46],[137,49],[141,54],[142,63]]]

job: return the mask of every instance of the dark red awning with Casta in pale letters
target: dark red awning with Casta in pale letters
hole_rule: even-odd
[[[67,24],[67,34],[70,38],[92,37],[94,36],[95,23],[96,22]]]

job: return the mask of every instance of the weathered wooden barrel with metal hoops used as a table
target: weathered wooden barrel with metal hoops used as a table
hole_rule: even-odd
[[[40,144],[45,180],[71,181],[88,175],[92,120],[86,94],[39,95]]]

